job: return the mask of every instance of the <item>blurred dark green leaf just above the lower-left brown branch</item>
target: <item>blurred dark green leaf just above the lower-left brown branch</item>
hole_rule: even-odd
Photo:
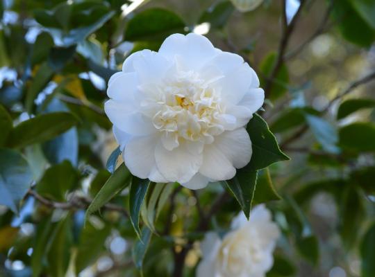
[[[37,192],[47,198],[63,202],[65,195],[78,180],[78,174],[69,161],[48,168],[36,186]]]

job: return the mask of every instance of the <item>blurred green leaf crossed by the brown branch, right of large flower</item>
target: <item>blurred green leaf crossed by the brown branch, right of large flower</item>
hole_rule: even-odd
[[[260,71],[263,73],[263,75],[268,76],[272,73],[275,62],[276,62],[277,55],[276,53],[270,53],[265,57],[265,60],[260,64]],[[265,78],[260,78],[261,87],[264,87],[264,84],[266,82]],[[272,89],[269,91],[269,99],[270,100],[276,100],[277,98],[280,98],[283,96],[283,94],[288,89],[288,82],[289,82],[289,73],[288,68],[285,64],[281,65],[280,70],[276,74],[274,80],[272,80],[274,84],[272,84]]]

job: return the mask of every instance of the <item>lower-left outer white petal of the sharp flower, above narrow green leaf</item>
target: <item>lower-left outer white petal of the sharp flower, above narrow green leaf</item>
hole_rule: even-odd
[[[147,179],[155,165],[155,148],[158,136],[133,137],[123,152],[126,167],[142,179]]]

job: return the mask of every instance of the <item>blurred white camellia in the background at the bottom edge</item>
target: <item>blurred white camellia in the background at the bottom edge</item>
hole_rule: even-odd
[[[264,205],[253,208],[249,221],[241,212],[231,229],[223,240],[216,233],[206,234],[197,277],[264,277],[272,268],[280,231]]]

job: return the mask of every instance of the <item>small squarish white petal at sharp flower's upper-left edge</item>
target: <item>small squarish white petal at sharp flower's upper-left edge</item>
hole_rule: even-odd
[[[108,97],[117,101],[133,102],[137,93],[138,78],[134,72],[115,73],[108,82]]]

